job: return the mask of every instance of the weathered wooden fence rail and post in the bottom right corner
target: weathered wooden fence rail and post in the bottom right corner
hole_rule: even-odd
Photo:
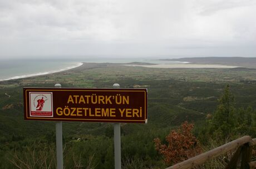
[[[238,163],[240,162],[240,169],[256,169],[256,161],[250,162],[252,155],[252,146],[256,145],[256,139],[252,139],[250,136],[243,136],[237,140],[228,142],[222,146],[214,148],[208,152],[201,153],[198,156],[189,158],[186,161],[180,162],[174,166],[165,168],[165,169],[188,169],[201,165],[204,162],[219,156],[224,153],[234,150],[237,148],[237,151],[234,153],[233,157],[230,159],[226,169],[237,168]]]

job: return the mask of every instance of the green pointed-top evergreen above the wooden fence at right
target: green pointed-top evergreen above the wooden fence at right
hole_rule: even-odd
[[[220,141],[235,139],[243,135],[254,136],[256,129],[256,114],[252,107],[235,108],[234,96],[229,85],[225,86],[219,105],[212,118],[206,121],[205,130],[201,130],[202,138],[214,137]],[[200,139],[201,140],[201,139]]]

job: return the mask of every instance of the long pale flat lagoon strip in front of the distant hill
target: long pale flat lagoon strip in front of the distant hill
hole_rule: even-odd
[[[142,66],[146,68],[238,68],[239,66],[216,65],[216,64],[156,64],[156,65],[126,65]]]

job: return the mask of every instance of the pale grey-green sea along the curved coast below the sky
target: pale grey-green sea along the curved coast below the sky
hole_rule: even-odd
[[[86,59],[0,59],[0,81],[27,78],[37,75],[56,73],[76,68],[86,63],[154,63],[179,64],[184,62],[161,61],[157,59],[127,58],[86,58]]]

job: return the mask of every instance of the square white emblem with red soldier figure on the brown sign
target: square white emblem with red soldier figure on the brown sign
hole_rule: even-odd
[[[52,93],[29,92],[30,111],[32,117],[53,117]]]

